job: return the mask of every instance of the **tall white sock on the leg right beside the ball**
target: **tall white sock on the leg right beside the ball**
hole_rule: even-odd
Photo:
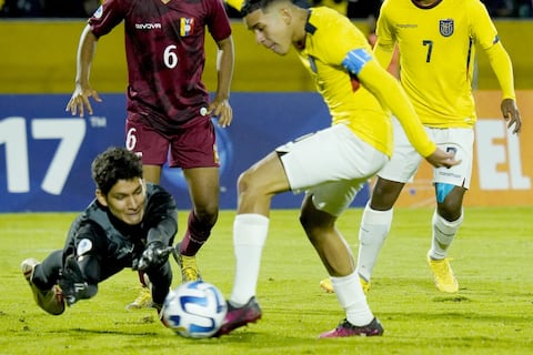
[[[242,306],[255,295],[261,254],[269,232],[269,219],[261,214],[238,214],[233,222],[235,277],[230,302]]]

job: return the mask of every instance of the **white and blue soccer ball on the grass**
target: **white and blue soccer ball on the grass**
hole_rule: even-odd
[[[163,321],[184,337],[210,337],[222,325],[228,306],[217,286],[190,281],[169,292],[163,304]]]

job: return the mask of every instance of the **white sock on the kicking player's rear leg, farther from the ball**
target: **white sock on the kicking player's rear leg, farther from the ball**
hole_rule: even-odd
[[[356,326],[363,326],[372,322],[374,315],[366,303],[356,272],[342,277],[331,276],[331,284],[335,290],[336,300],[346,311],[348,322]]]

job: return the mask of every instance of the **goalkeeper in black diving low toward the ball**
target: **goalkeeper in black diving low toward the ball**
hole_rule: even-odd
[[[72,223],[63,250],[22,262],[36,303],[52,315],[97,294],[124,267],[143,271],[159,311],[172,283],[169,254],[178,231],[175,201],[142,179],[140,158],[110,148],[92,162],[95,200]]]

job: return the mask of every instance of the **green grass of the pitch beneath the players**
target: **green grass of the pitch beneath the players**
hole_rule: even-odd
[[[258,288],[263,318],[201,341],[174,335],[154,311],[125,312],[138,294],[130,270],[63,315],[46,314],[19,264],[62,247],[74,214],[0,214],[0,354],[533,354],[532,211],[466,209],[450,251],[460,292],[446,295],[434,288],[425,264],[432,210],[398,209],[369,294],[384,336],[320,341],[316,335],[334,327],[343,312],[334,295],[319,288],[325,271],[298,211],[271,215]],[[350,210],[339,223],[355,253],[361,212]],[[225,295],[233,281],[233,215],[221,213],[198,256],[204,280]],[[179,235],[185,221],[180,212]]]

